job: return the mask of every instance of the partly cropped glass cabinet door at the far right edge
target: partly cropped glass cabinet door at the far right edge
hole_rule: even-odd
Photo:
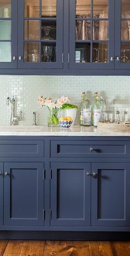
[[[117,0],[116,5],[116,69],[130,68],[130,2]]]

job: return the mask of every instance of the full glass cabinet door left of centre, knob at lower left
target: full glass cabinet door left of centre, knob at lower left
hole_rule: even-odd
[[[63,0],[19,2],[18,67],[62,68]]]

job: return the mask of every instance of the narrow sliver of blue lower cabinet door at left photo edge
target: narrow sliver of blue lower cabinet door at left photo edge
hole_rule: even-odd
[[[0,163],[0,225],[3,225],[3,163]]]

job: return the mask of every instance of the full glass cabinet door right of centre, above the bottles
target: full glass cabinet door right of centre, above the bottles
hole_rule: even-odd
[[[69,10],[71,69],[112,69],[114,1],[71,0]]]

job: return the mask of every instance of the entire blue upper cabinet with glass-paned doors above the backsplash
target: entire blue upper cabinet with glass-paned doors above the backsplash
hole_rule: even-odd
[[[129,6],[123,0],[0,4],[0,74],[129,75]]]

